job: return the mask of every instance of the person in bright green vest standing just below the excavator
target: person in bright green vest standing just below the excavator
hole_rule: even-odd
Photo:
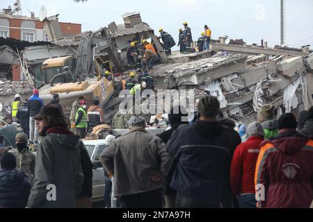
[[[86,136],[87,133],[87,105],[85,100],[81,100],[79,102],[79,109],[77,110],[76,117],[75,117],[75,125],[76,133],[79,135],[79,139],[83,139]]]

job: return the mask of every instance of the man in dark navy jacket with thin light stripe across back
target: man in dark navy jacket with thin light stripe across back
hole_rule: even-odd
[[[195,123],[180,126],[167,143],[168,153],[179,163],[170,182],[177,191],[176,207],[223,207],[230,187],[232,132],[217,121],[219,110],[216,97],[204,96]]]

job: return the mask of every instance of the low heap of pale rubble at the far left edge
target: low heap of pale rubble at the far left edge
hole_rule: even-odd
[[[31,94],[33,86],[25,80],[10,81],[0,78],[0,96],[12,96],[15,94]]]

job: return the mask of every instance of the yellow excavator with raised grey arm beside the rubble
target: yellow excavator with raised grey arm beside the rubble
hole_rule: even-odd
[[[93,99],[98,99],[100,105],[109,110],[119,103],[119,100],[112,99],[112,96],[113,69],[121,71],[120,64],[120,57],[108,28],[87,33],[79,43],[76,58],[63,56],[42,62],[41,79],[36,79],[41,85],[40,98],[47,104],[53,99],[53,94],[59,94],[63,112],[67,117],[70,116],[72,103],[79,96],[86,98],[88,106]],[[111,76],[104,76],[105,71],[110,71]],[[108,121],[111,116],[113,118],[114,112],[110,113],[104,111]]]

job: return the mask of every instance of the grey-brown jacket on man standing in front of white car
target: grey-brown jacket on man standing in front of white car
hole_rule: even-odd
[[[100,155],[100,162],[114,176],[115,196],[141,194],[165,187],[165,178],[172,166],[172,158],[159,137],[144,128],[132,128],[116,139]],[[161,181],[154,182],[157,174]]]

